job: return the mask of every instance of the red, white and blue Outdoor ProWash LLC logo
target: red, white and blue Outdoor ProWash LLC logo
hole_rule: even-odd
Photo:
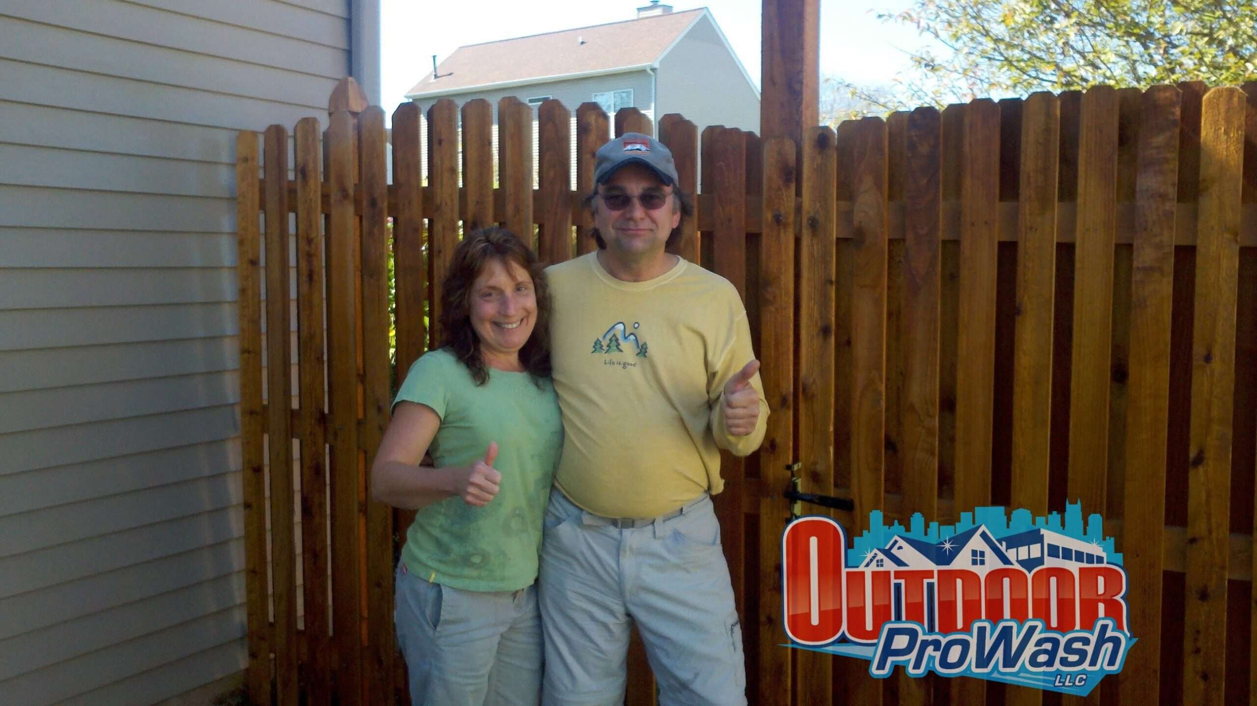
[[[1135,643],[1126,572],[1104,520],[1067,504],[1063,518],[978,508],[954,526],[920,514],[910,528],[870,530],[847,551],[830,518],[792,521],[782,535],[783,618],[789,647],[1086,696],[1121,671]]]

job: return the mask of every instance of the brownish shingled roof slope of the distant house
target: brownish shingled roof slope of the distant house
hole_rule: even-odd
[[[459,46],[411,88],[407,98],[484,85],[611,73],[654,64],[704,14],[705,8],[620,23]]]

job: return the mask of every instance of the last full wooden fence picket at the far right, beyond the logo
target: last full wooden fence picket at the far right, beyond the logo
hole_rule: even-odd
[[[1200,219],[1197,235],[1188,469],[1187,612],[1183,697],[1226,701],[1232,403],[1239,268],[1246,97],[1214,88],[1200,111]]]

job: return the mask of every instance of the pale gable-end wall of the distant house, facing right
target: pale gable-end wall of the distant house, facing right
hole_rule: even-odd
[[[759,94],[722,41],[710,14],[659,63],[656,108],[661,116],[681,113],[700,133],[708,126],[759,132]]]

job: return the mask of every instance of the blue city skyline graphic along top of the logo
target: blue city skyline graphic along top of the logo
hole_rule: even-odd
[[[939,545],[940,549],[945,549],[949,538],[964,535],[964,539],[968,539],[973,530],[983,526],[996,540],[1033,530],[1052,531],[1096,546],[1102,550],[1107,564],[1121,565],[1123,562],[1121,554],[1114,550],[1114,538],[1104,534],[1104,516],[1092,513],[1086,523],[1082,521],[1082,502],[1066,501],[1063,514],[1052,511],[1040,516],[1023,508],[1013,510],[1009,516],[1002,505],[982,506],[972,513],[960,513],[960,521],[954,525],[940,525],[934,521],[926,526],[925,516],[920,513],[913,514],[906,528],[899,520],[887,526],[881,510],[869,513],[869,529],[855,538],[855,546],[847,553],[847,567],[860,567],[876,550],[885,549],[896,536],[915,540],[914,544]]]

